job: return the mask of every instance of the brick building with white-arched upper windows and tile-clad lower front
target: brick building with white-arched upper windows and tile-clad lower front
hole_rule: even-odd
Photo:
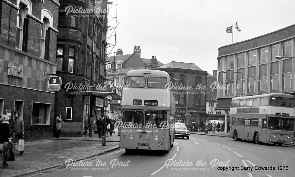
[[[58,0],[0,1],[0,113],[19,111],[26,141],[52,137]]]

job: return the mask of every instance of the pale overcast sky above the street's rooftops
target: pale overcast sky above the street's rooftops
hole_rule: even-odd
[[[251,39],[294,24],[294,7],[294,0],[118,0],[116,50],[131,54],[140,46],[141,58],[194,63],[213,74],[218,48],[232,44],[227,27],[234,25],[234,43],[236,21],[242,30],[238,42]],[[114,44],[114,37],[108,43]]]

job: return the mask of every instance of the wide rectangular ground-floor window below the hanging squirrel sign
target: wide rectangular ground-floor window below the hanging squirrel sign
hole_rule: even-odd
[[[32,105],[32,125],[49,125],[50,104],[35,103]]]

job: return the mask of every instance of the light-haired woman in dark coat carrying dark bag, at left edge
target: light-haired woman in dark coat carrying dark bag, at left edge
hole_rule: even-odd
[[[3,159],[3,166],[6,167],[8,164],[6,163],[5,159],[5,153],[6,151],[3,149],[3,144],[4,142],[12,142],[12,137],[11,137],[11,130],[10,130],[10,125],[9,125],[9,117],[6,116],[5,114],[2,116],[2,120],[0,123],[0,151],[1,151],[1,156]]]

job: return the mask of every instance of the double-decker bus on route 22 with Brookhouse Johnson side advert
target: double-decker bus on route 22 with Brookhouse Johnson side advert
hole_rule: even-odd
[[[232,98],[230,137],[256,144],[294,143],[294,96],[269,93]]]

